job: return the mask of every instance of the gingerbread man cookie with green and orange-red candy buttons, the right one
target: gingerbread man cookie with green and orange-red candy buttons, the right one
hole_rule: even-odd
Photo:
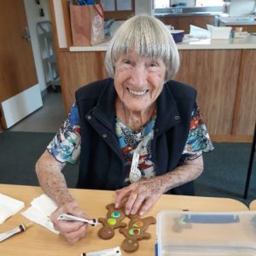
[[[131,221],[128,229],[119,229],[119,232],[125,235],[125,240],[122,242],[121,247],[127,253],[132,253],[138,248],[138,241],[148,239],[151,235],[147,232],[150,224],[156,224],[154,217],[139,218],[137,214],[129,216]]]

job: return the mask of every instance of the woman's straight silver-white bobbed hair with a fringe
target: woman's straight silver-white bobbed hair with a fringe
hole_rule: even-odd
[[[166,80],[172,79],[179,67],[179,55],[171,32],[158,19],[136,15],[126,20],[108,44],[105,67],[113,78],[114,66],[120,55],[135,49],[137,55],[158,58],[166,65]]]

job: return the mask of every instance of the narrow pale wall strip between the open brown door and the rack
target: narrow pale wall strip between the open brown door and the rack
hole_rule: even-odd
[[[26,9],[27,24],[32,39],[32,51],[38,74],[38,83],[40,85],[41,92],[43,92],[46,89],[46,81],[44,78],[44,67],[41,60],[40,47],[38,43],[37,22],[43,20],[50,20],[48,0],[40,0],[40,5],[32,0],[24,0],[24,4]],[[40,17],[39,15],[41,8],[44,9],[44,17]]]

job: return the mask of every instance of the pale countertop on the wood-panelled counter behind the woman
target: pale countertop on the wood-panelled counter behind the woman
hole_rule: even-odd
[[[108,41],[94,46],[72,46],[71,52],[79,51],[106,51]],[[230,39],[198,39],[185,35],[183,42],[177,44],[177,49],[256,49],[256,36]]]

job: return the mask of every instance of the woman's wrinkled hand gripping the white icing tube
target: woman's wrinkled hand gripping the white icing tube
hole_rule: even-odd
[[[60,231],[61,235],[63,235],[70,244],[74,244],[86,235],[88,224],[79,221],[57,220],[61,213],[68,213],[81,218],[87,218],[87,216],[79,208],[76,201],[67,202],[61,207],[58,207],[50,216],[55,230]]]

